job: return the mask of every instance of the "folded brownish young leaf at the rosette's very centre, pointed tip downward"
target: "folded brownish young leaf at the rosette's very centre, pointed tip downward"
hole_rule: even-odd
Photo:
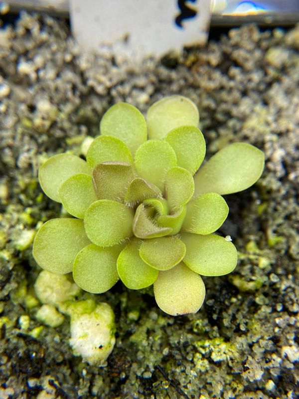
[[[160,227],[152,218],[153,208],[146,207],[141,203],[136,209],[133,221],[134,235],[138,238],[162,237],[169,234],[172,229],[169,227]]]

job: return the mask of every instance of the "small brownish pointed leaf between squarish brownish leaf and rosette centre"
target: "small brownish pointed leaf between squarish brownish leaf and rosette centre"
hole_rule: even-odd
[[[156,186],[142,178],[135,178],[130,183],[124,200],[128,206],[135,206],[146,199],[161,196],[161,191]]]

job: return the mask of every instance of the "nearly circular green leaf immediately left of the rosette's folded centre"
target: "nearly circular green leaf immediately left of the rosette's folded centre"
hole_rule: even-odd
[[[132,235],[133,212],[123,203],[98,200],[86,210],[85,231],[96,245],[109,247]]]

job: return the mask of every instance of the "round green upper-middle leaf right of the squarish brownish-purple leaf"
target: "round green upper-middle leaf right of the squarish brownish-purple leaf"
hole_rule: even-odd
[[[175,152],[165,141],[149,140],[137,150],[135,166],[140,177],[163,190],[167,171],[176,166]]]

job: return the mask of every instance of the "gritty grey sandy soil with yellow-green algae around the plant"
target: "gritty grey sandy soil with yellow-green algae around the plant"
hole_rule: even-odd
[[[0,30],[0,398],[298,398],[298,50],[299,27],[249,25],[136,65],[80,55],[67,24],[49,16],[23,13]],[[238,266],[204,278],[193,315],[166,315],[150,292],[120,282],[95,296],[114,309],[116,345],[106,367],[89,366],[72,354],[67,317],[56,328],[35,317],[32,240],[61,213],[38,167],[80,154],[112,104],[145,112],[174,93],[198,106],[208,157],[235,141],[265,152],[259,182],[225,198],[220,233],[231,235]]]

